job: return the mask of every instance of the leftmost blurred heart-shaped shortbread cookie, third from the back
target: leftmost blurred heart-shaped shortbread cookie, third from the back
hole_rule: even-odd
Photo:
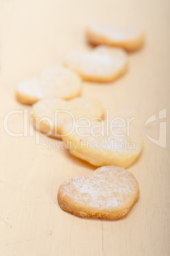
[[[81,94],[81,78],[69,68],[54,66],[19,83],[16,94],[18,101],[29,105],[45,97],[71,99]]]

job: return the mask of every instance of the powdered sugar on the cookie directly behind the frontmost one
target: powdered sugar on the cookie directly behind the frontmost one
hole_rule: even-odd
[[[104,152],[110,152],[108,160],[112,158],[121,159],[123,155],[127,155],[128,158],[128,155],[130,157],[130,155],[138,155],[139,152],[141,152],[141,133],[132,125],[131,129],[129,129],[130,131],[128,131],[127,127],[117,126],[111,129],[105,121],[92,121],[90,127],[83,126],[85,124],[83,120],[80,124],[82,127],[77,129],[78,132],[74,129],[66,138],[73,141],[73,143],[75,143],[75,141],[79,143],[80,152],[82,152],[83,155],[87,153],[86,148],[89,149],[89,152],[91,151],[91,148],[88,146],[90,143],[94,143],[92,149],[96,150],[96,157],[101,155],[101,157],[104,158]],[[72,124],[65,125],[62,134],[67,134],[67,132],[71,131],[71,125]],[[97,148],[97,143],[101,145],[99,148]],[[77,150],[79,150],[79,148]],[[111,162],[109,163],[111,164]]]

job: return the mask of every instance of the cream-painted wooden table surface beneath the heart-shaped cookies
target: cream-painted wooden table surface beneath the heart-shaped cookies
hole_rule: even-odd
[[[0,1],[2,256],[170,255],[169,3]],[[86,25],[96,21],[138,26],[146,34],[143,49],[129,55],[125,76],[109,84],[83,83],[83,96],[100,99],[110,110],[110,117],[135,117],[134,124],[143,133],[143,152],[129,167],[139,182],[139,201],[126,217],[115,221],[86,220],[60,209],[57,190],[62,181],[88,176],[96,167],[67,150],[50,149],[50,142],[59,145],[60,141],[32,134],[32,124],[26,117],[30,108],[15,99],[20,80],[60,63],[71,49],[90,48],[84,31]],[[164,120],[159,120],[160,110],[167,115]],[[145,122],[152,115],[157,120],[147,125],[147,138]],[[167,138],[162,128],[165,123],[161,122],[167,122]],[[17,138],[20,132],[24,134]],[[159,133],[163,141],[158,140]],[[45,139],[48,148],[43,144]]]

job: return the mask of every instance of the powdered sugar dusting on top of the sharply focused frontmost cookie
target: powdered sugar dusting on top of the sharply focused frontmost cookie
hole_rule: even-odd
[[[121,167],[104,166],[98,168],[92,176],[64,181],[60,193],[80,206],[104,210],[122,208],[132,200],[136,188],[138,182],[129,171]]]

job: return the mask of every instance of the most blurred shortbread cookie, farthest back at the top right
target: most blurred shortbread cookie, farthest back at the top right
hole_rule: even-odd
[[[104,24],[90,25],[86,34],[93,45],[118,46],[127,51],[138,50],[144,41],[143,32],[138,29],[122,29]]]

